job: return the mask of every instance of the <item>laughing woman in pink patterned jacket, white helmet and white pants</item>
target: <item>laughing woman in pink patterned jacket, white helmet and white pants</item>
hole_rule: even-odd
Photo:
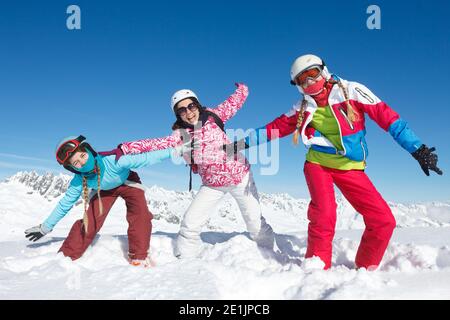
[[[236,114],[248,96],[246,85],[236,86],[236,91],[213,109],[203,107],[191,90],[175,92],[171,109],[176,122],[172,126],[171,136],[121,145],[124,154],[135,154],[172,148],[191,141],[193,151],[185,154],[184,158],[192,172],[200,175],[202,186],[181,222],[175,247],[177,257],[197,255],[201,229],[211,210],[228,192],[239,205],[250,237],[261,247],[273,248],[273,231],[261,215],[250,164],[242,154],[230,158],[222,149],[224,144],[230,143],[223,125]]]

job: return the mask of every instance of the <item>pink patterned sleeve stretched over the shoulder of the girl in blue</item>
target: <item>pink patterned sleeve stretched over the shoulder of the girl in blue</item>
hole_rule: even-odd
[[[137,154],[150,152],[155,150],[163,150],[167,148],[173,148],[181,142],[180,134],[177,131],[171,136],[155,139],[142,139],[132,142],[124,142],[120,146],[124,154]]]

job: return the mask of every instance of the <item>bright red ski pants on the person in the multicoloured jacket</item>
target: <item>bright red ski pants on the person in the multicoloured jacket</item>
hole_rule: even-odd
[[[378,266],[394,231],[395,218],[364,171],[336,170],[305,162],[304,173],[311,195],[305,257],[318,256],[325,263],[325,269],[331,267],[337,207],[334,183],[363,215],[366,225],[356,254],[356,266],[367,269]]]

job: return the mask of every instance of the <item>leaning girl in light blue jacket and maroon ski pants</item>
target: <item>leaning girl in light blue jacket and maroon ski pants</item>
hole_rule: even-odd
[[[36,241],[52,231],[83,195],[83,219],[74,223],[59,250],[64,256],[76,260],[94,240],[115,200],[121,197],[127,207],[129,262],[136,266],[150,266],[147,253],[153,216],[148,210],[139,176],[130,169],[159,163],[174,154],[189,152],[189,148],[186,143],[174,149],[123,156],[116,162],[114,155],[97,154],[81,135],[63,139],[56,148],[56,160],[75,176],[53,212],[42,224],[27,229],[26,237]],[[88,188],[95,191],[91,196]]]

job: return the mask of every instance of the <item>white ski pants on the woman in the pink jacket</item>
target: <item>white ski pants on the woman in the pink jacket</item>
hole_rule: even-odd
[[[211,212],[227,192],[236,200],[250,237],[259,246],[273,248],[273,230],[261,215],[258,191],[252,173],[249,172],[242,182],[235,186],[200,187],[181,222],[175,245],[176,256],[183,258],[197,255],[201,243],[200,232]]]

